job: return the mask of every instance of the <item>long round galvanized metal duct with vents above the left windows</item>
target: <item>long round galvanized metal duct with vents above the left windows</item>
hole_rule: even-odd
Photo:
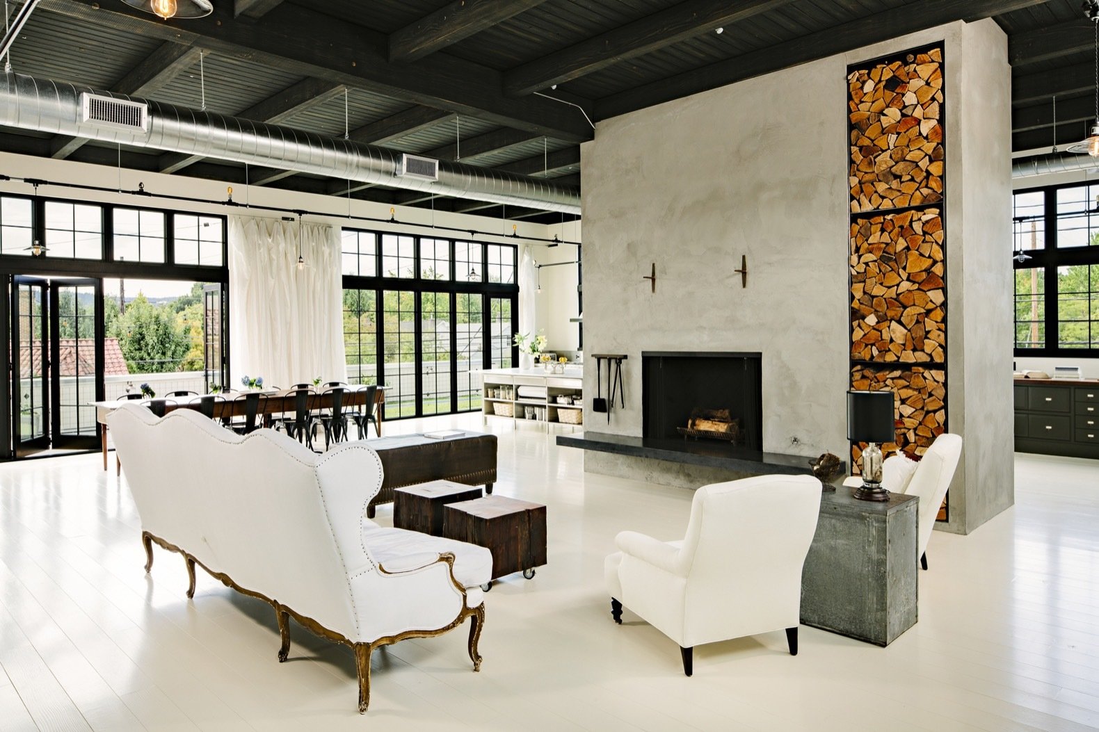
[[[385,147],[40,80],[22,74],[7,74],[5,77],[0,88],[0,125],[4,126],[201,155],[437,196],[580,213],[580,197],[575,190],[528,176],[440,160],[437,181],[402,178],[395,175],[401,154]],[[147,103],[148,132],[81,122],[82,92]]]

